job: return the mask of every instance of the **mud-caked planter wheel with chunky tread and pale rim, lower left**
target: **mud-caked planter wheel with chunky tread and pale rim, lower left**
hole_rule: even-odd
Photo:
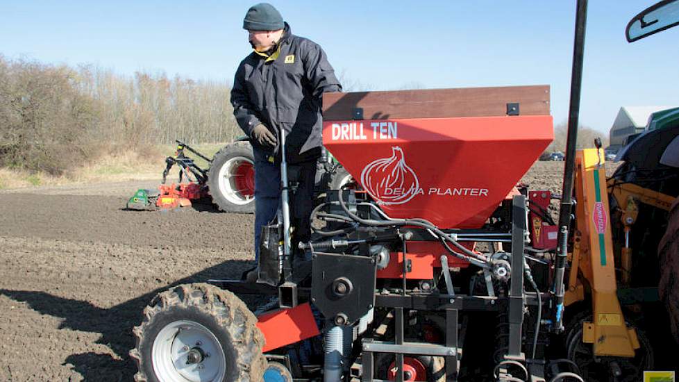
[[[183,284],[161,292],[133,329],[137,345],[130,356],[139,370],[135,381],[184,380],[182,373],[201,373],[201,381],[262,381],[265,339],[256,324],[243,301],[215,285]],[[190,363],[188,352],[200,354],[200,362]]]

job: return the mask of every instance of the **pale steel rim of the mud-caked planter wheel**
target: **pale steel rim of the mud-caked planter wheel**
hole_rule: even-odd
[[[200,363],[187,364],[192,349],[205,355]],[[223,381],[226,356],[217,336],[198,322],[181,320],[165,326],[153,341],[153,371],[163,382]]]

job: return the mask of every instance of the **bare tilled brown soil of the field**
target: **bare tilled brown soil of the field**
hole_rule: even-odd
[[[562,171],[523,181],[560,193]],[[154,184],[0,192],[0,381],[131,381],[131,329],[155,294],[253,265],[253,215],[122,209]]]

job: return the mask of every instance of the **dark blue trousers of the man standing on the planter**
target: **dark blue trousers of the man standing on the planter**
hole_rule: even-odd
[[[267,153],[254,150],[255,156],[255,260],[260,257],[262,226],[273,221],[280,209],[280,163],[269,162]],[[290,222],[294,227],[291,240],[292,252],[300,241],[311,238],[309,218],[313,209],[316,160],[288,165],[288,178],[294,181],[299,173],[299,187],[290,195]]]

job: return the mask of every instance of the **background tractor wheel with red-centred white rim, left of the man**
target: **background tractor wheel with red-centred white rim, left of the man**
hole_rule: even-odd
[[[233,142],[212,157],[208,190],[226,213],[255,213],[255,156],[250,142]]]

